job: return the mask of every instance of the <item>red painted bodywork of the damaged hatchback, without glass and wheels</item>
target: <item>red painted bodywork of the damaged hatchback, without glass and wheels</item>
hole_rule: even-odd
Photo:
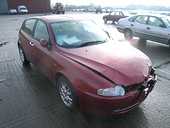
[[[49,16],[50,17],[50,16]],[[122,114],[138,106],[150,93],[141,89],[150,77],[150,59],[128,43],[108,41],[82,48],[62,48],[57,45],[50,23],[56,17],[35,18],[46,23],[50,47],[23,30],[19,33],[19,45],[26,57],[54,84],[57,76],[65,76],[78,96],[80,110],[104,114]],[[66,18],[64,18],[66,20]],[[56,22],[57,22],[56,18]],[[59,19],[61,22],[61,18]],[[36,23],[35,23],[36,24]],[[34,43],[30,46],[29,42]],[[101,88],[134,88],[124,96],[104,97],[97,94]],[[148,85],[148,84],[147,84]],[[136,86],[140,89],[136,89]],[[153,88],[154,84],[148,88]]]

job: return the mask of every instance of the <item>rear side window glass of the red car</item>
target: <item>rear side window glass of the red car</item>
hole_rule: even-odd
[[[22,25],[22,30],[29,35],[33,35],[33,29],[35,25],[36,19],[29,19],[24,22]]]

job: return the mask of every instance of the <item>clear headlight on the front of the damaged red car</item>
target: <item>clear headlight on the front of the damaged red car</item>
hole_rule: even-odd
[[[125,89],[122,86],[115,86],[111,88],[98,89],[97,94],[101,96],[124,96]]]

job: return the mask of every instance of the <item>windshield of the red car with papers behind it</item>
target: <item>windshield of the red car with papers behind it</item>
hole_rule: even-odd
[[[52,23],[56,43],[76,48],[106,42],[108,35],[92,21],[63,21]]]

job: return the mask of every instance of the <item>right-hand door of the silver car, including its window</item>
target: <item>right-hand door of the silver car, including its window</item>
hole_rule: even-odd
[[[168,43],[168,30],[163,20],[159,17],[150,16],[148,20],[148,25],[145,27],[149,39],[167,44]]]

